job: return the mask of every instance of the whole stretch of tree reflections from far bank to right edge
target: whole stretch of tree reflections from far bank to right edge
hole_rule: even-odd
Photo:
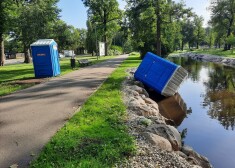
[[[203,66],[207,66],[208,79],[204,81],[206,92],[203,106],[209,107],[208,115],[217,119],[225,129],[235,127],[235,69],[212,63],[203,63],[190,58],[170,58],[189,72],[189,78],[196,82],[200,79]]]

